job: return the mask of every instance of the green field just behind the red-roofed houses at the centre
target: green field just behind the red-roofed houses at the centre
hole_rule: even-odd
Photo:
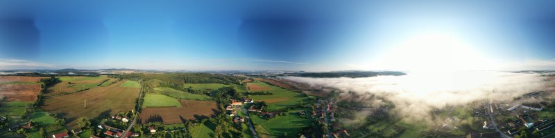
[[[286,108],[287,106],[294,106],[300,104],[301,102],[307,104],[310,99],[302,93],[293,92],[284,88],[277,86],[271,86],[263,82],[255,82],[258,86],[269,87],[273,95],[251,95],[250,98],[255,101],[266,101],[268,104],[268,110],[278,110],[280,108]]]

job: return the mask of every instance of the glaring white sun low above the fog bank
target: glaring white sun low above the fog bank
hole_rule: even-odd
[[[492,65],[460,37],[448,33],[418,34],[400,43],[381,59],[386,69],[414,72],[486,70]]]

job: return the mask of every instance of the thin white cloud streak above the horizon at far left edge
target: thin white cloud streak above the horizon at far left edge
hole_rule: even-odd
[[[39,63],[22,59],[0,59],[0,69],[35,69],[53,67],[53,65],[48,63]]]

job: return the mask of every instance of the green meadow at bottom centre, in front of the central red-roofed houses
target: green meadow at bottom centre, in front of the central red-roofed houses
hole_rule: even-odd
[[[289,110],[289,112],[287,112],[287,115],[277,116],[268,121],[262,121],[259,119],[256,119],[255,121],[253,118],[256,117],[251,118],[251,120],[253,121],[253,124],[256,124],[257,126],[262,126],[262,128],[266,129],[268,131],[268,134],[266,135],[283,137],[284,133],[287,132],[288,137],[297,137],[297,134],[300,133],[301,128],[310,125],[310,121],[300,117],[298,111],[300,110]]]

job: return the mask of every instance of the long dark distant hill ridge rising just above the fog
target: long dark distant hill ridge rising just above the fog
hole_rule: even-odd
[[[375,76],[401,76],[407,75],[404,72],[398,71],[343,71],[343,72],[296,72],[286,74],[288,76],[297,77],[317,77],[317,78],[333,78],[333,77],[375,77]]]

